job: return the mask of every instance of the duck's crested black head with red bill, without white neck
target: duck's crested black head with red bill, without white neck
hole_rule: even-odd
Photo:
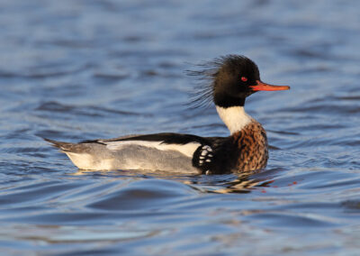
[[[199,87],[198,96],[193,102],[201,102],[212,97],[215,105],[222,107],[242,106],[247,96],[253,93],[274,90],[287,90],[290,87],[271,86],[261,82],[257,64],[240,55],[227,55],[207,63],[207,69],[195,71],[191,75],[211,78],[211,84]]]

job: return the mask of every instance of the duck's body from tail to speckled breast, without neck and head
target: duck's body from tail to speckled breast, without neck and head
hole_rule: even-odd
[[[229,173],[265,168],[268,158],[266,132],[254,119],[229,137],[156,133],[80,143],[48,141],[79,169]]]

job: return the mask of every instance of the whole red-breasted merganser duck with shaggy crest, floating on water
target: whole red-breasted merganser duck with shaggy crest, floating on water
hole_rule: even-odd
[[[244,110],[247,96],[257,91],[288,90],[260,80],[257,65],[244,56],[228,55],[211,62],[211,69],[193,74],[211,78],[197,100],[211,97],[229,137],[181,133],[128,135],[78,143],[51,142],[79,169],[144,169],[222,174],[264,169],[268,159],[266,131]]]

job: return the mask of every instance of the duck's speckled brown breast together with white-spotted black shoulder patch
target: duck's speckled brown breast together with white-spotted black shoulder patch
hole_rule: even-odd
[[[253,120],[229,137],[203,138],[193,154],[193,166],[206,174],[263,169],[268,159],[266,132]],[[209,147],[211,150],[206,151]]]

